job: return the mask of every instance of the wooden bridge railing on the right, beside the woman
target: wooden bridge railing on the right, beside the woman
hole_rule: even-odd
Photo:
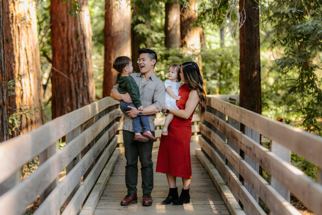
[[[259,197],[271,214],[301,214],[289,203],[289,192],[321,214],[320,181],[289,163],[293,151],[320,169],[321,137],[211,96],[200,132],[202,151],[196,154],[232,214],[243,214],[239,201],[249,214],[266,214],[258,204]],[[271,151],[260,145],[260,134],[271,140]],[[270,183],[260,176],[259,166],[270,173]]]

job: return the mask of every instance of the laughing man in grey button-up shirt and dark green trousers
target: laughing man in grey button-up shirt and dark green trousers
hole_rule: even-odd
[[[138,115],[148,115],[151,127],[151,133],[155,136],[155,114],[164,109],[165,102],[165,87],[163,82],[154,74],[154,67],[157,61],[156,53],[151,49],[140,49],[139,67],[140,73],[130,74],[136,81],[140,91],[140,101],[144,109],[137,110],[135,107],[127,111],[128,115],[124,115],[123,122],[123,142],[125,148],[125,183],[128,188],[128,194],[121,201],[121,205],[130,205],[137,203],[137,159],[141,162],[142,175],[142,190],[143,202],[142,205],[152,205],[151,192],[153,189],[153,162],[152,148],[153,140],[148,142],[134,141],[134,130],[132,119]],[[117,100],[123,100],[126,103],[132,102],[128,93],[121,94],[117,91],[118,84],[111,90],[111,97]],[[141,128],[142,131],[142,128]]]

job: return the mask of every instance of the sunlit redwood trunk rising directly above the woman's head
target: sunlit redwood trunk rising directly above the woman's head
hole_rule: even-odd
[[[196,0],[189,0],[190,7],[183,8],[180,15],[180,33],[181,33],[181,46],[184,51],[193,54],[194,60],[202,72],[202,59],[200,55],[201,42],[200,42],[200,27],[192,27],[198,17],[198,8]],[[182,6],[181,6],[182,7]],[[206,81],[204,80],[204,89],[206,89]]]

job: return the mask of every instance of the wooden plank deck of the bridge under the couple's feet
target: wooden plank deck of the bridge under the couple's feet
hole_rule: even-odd
[[[137,204],[132,204],[129,206],[120,205],[120,201],[127,194],[125,185],[126,159],[124,154],[122,154],[120,155],[109,181],[105,186],[94,214],[230,214],[207,171],[195,156],[195,148],[199,148],[199,144],[192,142],[191,165],[193,178],[190,186],[191,200],[189,204],[176,206],[171,204],[160,204],[160,202],[164,200],[168,194],[168,182],[164,173],[155,172],[158,148],[154,148],[152,151],[152,161],[154,163],[154,188],[151,193],[153,198],[152,206],[142,206],[142,179],[140,174],[140,163],[138,163],[139,172],[137,179]],[[182,181],[180,178],[177,179],[177,187],[180,195],[182,189]]]

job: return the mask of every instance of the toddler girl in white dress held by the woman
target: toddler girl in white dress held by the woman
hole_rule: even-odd
[[[181,96],[179,94],[179,87],[180,87],[180,68],[181,65],[173,64],[169,68],[168,72],[168,80],[164,82],[164,86],[166,87],[166,105],[169,108],[179,109],[176,105],[176,101],[180,100]],[[166,121],[162,128],[162,135],[168,135],[168,126],[172,121],[174,115],[168,113],[166,116]]]

